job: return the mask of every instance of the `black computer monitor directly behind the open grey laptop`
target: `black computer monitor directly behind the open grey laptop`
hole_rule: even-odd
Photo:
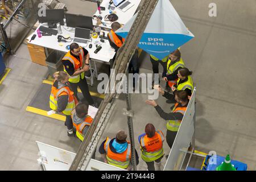
[[[75,14],[65,14],[67,27],[80,27],[80,28],[88,28],[93,30],[92,17],[83,16],[83,15],[75,15]]]

